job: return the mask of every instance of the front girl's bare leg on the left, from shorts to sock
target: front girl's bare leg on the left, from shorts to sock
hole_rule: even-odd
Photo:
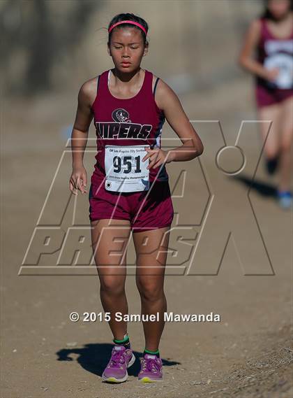
[[[97,220],[91,222],[91,241],[98,276],[100,300],[105,312],[110,312],[110,329],[114,339],[122,340],[127,322],[115,320],[115,313],[128,313],[125,294],[126,253],[130,225],[127,220]]]

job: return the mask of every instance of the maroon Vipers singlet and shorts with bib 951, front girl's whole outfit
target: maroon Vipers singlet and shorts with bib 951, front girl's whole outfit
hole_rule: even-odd
[[[153,73],[144,71],[140,91],[118,99],[109,89],[111,70],[98,76],[92,105],[96,164],[89,190],[89,218],[129,220],[134,232],[170,226],[174,217],[165,164],[147,169],[144,147],[161,148],[165,115],[155,101]]]

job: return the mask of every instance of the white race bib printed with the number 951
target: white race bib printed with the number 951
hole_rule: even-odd
[[[149,145],[105,145],[105,189],[112,192],[149,190],[149,159],[145,147]]]

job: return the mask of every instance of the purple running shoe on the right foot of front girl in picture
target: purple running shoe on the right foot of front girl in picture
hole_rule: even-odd
[[[160,357],[152,354],[144,354],[140,358],[140,373],[138,380],[143,383],[151,383],[153,381],[163,380],[163,363]]]

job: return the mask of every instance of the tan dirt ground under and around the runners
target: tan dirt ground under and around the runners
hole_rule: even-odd
[[[220,120],[227,145],[234,145],[241,120],[253,120],[255,113],[247,80],[231,83],[229,90],[218,87],[217,92],[188,94],[181,96],[181,100],[190,119]],[[57,264],[58,253],[53,253],[36,267],[41,269],[40,274],[19,274],[65,148],[61,131],[73,122],[75,115],[75,98],[66,101],[68,97],[62,95],[38,101],[7,100],[3,104],[1,397],[292,398],[292,212],[276,206],[271,193],[277,177],[266,175],[261,159],[250,199],[269,253],[272,273],[263,251],[252,250],[249,221],[243,210],[255,167],[248,164],[241,178],[229,179],[223,173],[219,177],[214,166],[213,145],[215,140],[218,145],[220,138],[219,135],[215,138],[213,123],[207,126],[197,123],[197,132],[205,146],[200,160],[206,181],[211,192],[220,192],[221,198],[216,214],[210,210],[212,218],[202,218],[207,193],[198,159],[186,164],[176,162],[167,168],[172,187],[179,170],[185,169],[191,176],[187,180],[184,201],[174,197],[174,208],[179,213],[179,225],[192,227],[195,220],[195,229],[191,229],[193,236],[189,236],[190,241],[188,243],[187,239],[185,245],[197,242],[194,239],[197,232],[201,246],[194,260],[195,266],[200,268],[199,274],[168,273],[165,294],[167,311],[179,314],[212,311],[220,314],[220,322],[166,322],[160,343],[164,364],[162,383],[142,385],[137,381],[138,357],[144,348],[140,322],[130,322],[128,327],[137,356],[135,365],[129,369],[128,381],[120,385],[101,382],[100,376],[112,348],[107,322],[70,322],[68,318],[71,311],[103,311],[94,272],[73,275],[69,267],[67,274],[58,275],[56,271],[44,275],[41,269],[44,264]],[[93,134],[91,129],[91,138]],[[172,136],[167,124],[164,134]],[[246,153],[249,159],[258,159],[257,132],[250,129],[247,134],[242,141]],[[87,157],[88,176],[93,168],[93,156],[91,152]],[[61,207],[64,209],[63,204],[69,198],[71,162],[69,157],[66,159],[66,168],[60,171],[61,178],[56,181],[55,201],[45,208],[45,221],[41,225],[59,225],[56,214]],[[232,163],[234,159],[227,162]],[[217,194],[214,204],[216,197]],[[82,221],[79,219],[79,222],[89,227],[87,198],[80,200],[77,209]],[[224,221],[223,214],[226,214]],[[188,224],[188,218],[193,216]],[[207,237],[202,234],[205,225]],[[220,263],[221,257],[214,257],[218,248],[213,230],[220,239],[232,230],[231,225],[238,227],[237,233],[232,232],[225,253],[225,244],[222,251],[217,251],[223,253]],[[171,247],[175,247],[177,237],[174,229]],[[188,253],[189,246],[176,247],[179,257]],[[88,246],[85,257],[89,253]],[[133,260],[133,246],[128,256]],[[168,264],[176,264],[172,253],[168,255]],[[218,275],[212,271],[215,264],[220,264]],[[204,266],[204,271],[208,272],[202,271]],[[22,271],[25,267],[26,264]],[[126,292],[130,313],[140,313],[133,269],[127,278]]]

